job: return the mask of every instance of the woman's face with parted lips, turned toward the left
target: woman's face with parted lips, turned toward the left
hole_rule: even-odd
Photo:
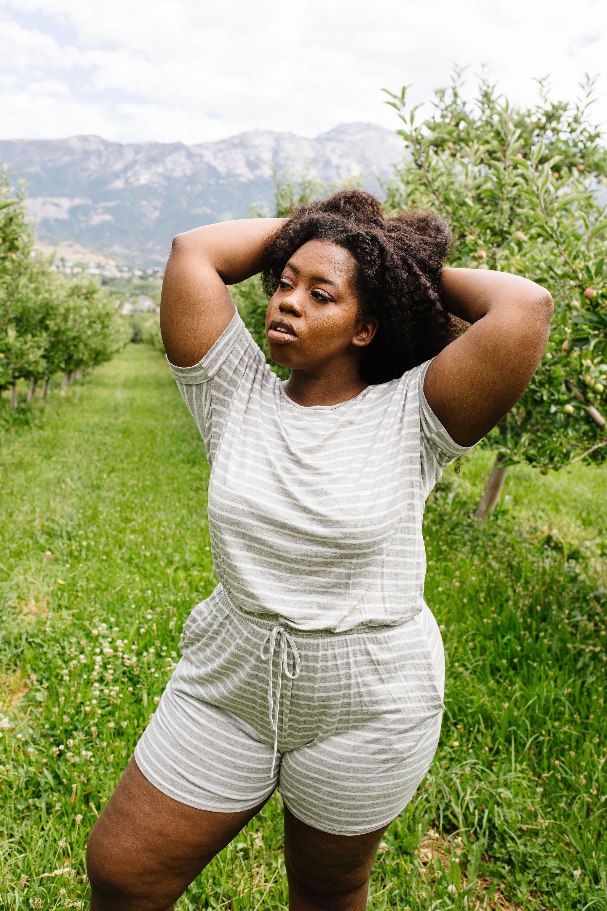
[[[314,370],[342,357],[359,357],[377,321],[357,320],[356,260],[330,241],[308,241],[282,271],[266,313],[272,360]]]

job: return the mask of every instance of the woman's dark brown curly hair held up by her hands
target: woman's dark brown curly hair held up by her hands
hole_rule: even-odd
[[[263,251],[261,277],[268,295],[277,290],[293,253],[315,240],[352,254],[358,265],[358,318],[379,322],[362,352],[360,375],[366,383],[402,376],[450,343],[454,334],[440,301],[440,275],[451,233],[439,215],[408,210],[385,218],[379,200],[359,189],[299,206]]]

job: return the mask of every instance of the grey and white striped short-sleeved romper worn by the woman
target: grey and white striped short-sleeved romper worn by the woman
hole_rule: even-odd
[[[444,708],[421,521],[466,452],[426,402],[428,363],[303,407],[237,313],[200,363],[171,366],[211,466],[219,584],[137,743],[163,793],[228,813],[278,786],[298,819],[347,835],[415,793]]]

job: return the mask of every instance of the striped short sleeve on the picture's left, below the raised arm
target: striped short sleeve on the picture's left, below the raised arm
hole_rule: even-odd
[[[167,359],[168,360],[168,359]],[[199,363],[176,367],[168,362],[179,392],[196,422],[212,464],[235,397],[254,382],[265,358],[236,312]],[[246,390],[245,390],[246,392]]]

